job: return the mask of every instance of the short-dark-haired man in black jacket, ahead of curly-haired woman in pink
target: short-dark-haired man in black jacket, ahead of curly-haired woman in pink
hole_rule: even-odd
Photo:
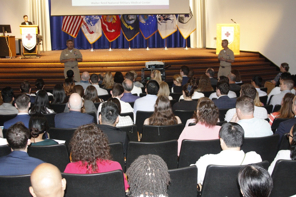
[[[118,106],[114,102],[103,102],[101,114],[99,115],[99,128],[108,136],[109,143],[122,142],[124,156],[128,147],[128,135],[120,128],[116,128],[118,123]]]

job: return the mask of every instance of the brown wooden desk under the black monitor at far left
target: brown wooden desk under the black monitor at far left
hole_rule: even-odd
[[[0,57],[14,57],[17,55],[15,50],[15,36],[0,36],[0,46]]]

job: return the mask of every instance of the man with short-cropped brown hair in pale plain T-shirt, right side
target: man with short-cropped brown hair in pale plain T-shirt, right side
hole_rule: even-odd
[[[254,100],[249,96],[237,98],[236,115],[230,122],[236,122],[244,129],[244,137],[265,137],[273,135],[270,124],[260,118],[254,117]]]

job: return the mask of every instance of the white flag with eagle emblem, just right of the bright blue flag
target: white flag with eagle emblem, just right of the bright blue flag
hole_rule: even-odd
[[[165,39],[177,31],[177,18],[175,14],[157,15],[157,28],[161,38]]]

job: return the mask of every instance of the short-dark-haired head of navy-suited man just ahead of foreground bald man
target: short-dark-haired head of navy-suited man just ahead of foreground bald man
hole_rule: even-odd
[[[30,139],[30,131],[24,123],[17,122],[8,128],[6,139],[12,150],[24,150]]]

